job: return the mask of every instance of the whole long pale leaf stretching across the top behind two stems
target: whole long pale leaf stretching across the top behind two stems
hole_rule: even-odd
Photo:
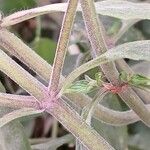
[[[121,0],[106,0],[95,3],[96,11],[98,14],[116,17],[120,19],[150,19],[150,4],[149,3],[133,3]],[[11,26],[33,17],[53,13],[65,12],[67,3],[56,3],[37,7],[33,9],[18,11],[2,19],[1,26]],[[78,6],[78,11],[81,11]],[[144,11],[143,11],[144,10]]]

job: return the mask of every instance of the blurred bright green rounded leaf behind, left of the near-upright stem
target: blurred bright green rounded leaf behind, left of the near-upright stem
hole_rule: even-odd
[[[40,38],[31,43],[32,48],[48,63],[52,64],[55,56],[56,43],[48,38]]]

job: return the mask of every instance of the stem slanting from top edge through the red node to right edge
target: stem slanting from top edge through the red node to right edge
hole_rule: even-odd
[[[81,8],[92,49],[96,55],[102,54],[103,52],[107,51],[107,47],[105,46],[106,44],[102,35],[103,26],[100,20],[97,18],[94,1],[81,0]],[[119,84],[118,71],[113,63],[101,65],[101,68],[107,79],[112,84]],[[119,96],[131,109],[133,109],[140,116],[145,124],[150,126],[150,111],[147,110],[142,100],[131,88],[127,88],[127,90],[124,92],[119,93]]]

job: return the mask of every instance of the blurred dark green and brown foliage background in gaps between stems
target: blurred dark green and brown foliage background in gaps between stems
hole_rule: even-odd
[[[50,3],[62,2],[61,0],[0,0],[0,9],[4,15],[11,14],[18,10],[32,8],[36,6],[42,6]],[[50,15],[43,15],[40,17],[41,28],[40,35],[38,34],[37,19],[31,19],[20,24],[11,27],[11,31],[18,35],[25,43],[30,45],[35,52],[43,57],[48,63],[52,64],[56,49],[56,43],[58,40],[62,13],[53,13]],[[115,35],[121,26],[119,19],[111,17],[102,17],[103,23],[106,27],[109,36]],[[38,29],[37,29],[38,28]],[[132,26],[119,40],[118,44],[131,42],[142,39],[150,38],[150,21],[143,20],[137,22]],[[85,32],[84,23],[80,13],[77,14],[74,30],[72,32],[69,49],[67,52],[67,58],[65,60],[65,67],[63,74],[67,75],[75,67],[90,59],[88,50],[90,49],[87,35]],[[12,58],[19,64],[21,64],[26,70],[28,70],[35,77],[39,78],[33,71],[31,71],[26,65],[22,64],[17,58]],[[80,59],[82,58],[82,59]],[[148,63],[136,62],[126,60],[128,64],[137,73],[150,76],[150,67]],[[98,68],[88,71],[87,74],[93,78],[94,74],[98,71]],[[82,78],[82,77],[81,77]],[[23,89],[15,84],[9,77],[0,72],[0,91],[6,93],[24,94],[28,95]],[[43,81],[44,82],[44,81]],[[47,83],[45,83],[47,84]],[[94,92],[90,96],[94,95]],[[113,108],[115,110],[127,110],[127,106],[120,101],[117,96],[109,94],[103,105]],[[6,110],[0,109],[0,115],[2,116]],[[8,111],[10,111],[8,109]],[[11,149],[12,145],[17,145],[16,139],[19,139],[20,144],[15,147],[16,149],[30,149],[27,139],[43,139],[50,138],[53,133],[53,124],[55,119],[44,114],[42,116],[26,117],[22,120],[17,120],[9,123],[7,126],[0,130],[0,149]],[[93,120],[94,128],[105,137],[117,150],[149,150],[150,147],[150,129],[143,123],[137,122],[132,125],[123,127],[113,127],[106,125],[98,120]],[[57,125],[57,137],[61,137],[67,134],[67,131],[60,125]],[[19,136],[23,135],[23,136]],[[46,139],[47,140],[47,139]],[[30,141],[31,142],[31,141]],[[33,142],[33,141],[32,141]],[[31,142],[31,143],[32,143]],[[33,143],[32,143],[33,144]],[[33,144],[34,145],[34,144]],[[12,147],[12,148],[11,148]],[[73,150],[74,142],[65,144],[58,148],[59,150]]]

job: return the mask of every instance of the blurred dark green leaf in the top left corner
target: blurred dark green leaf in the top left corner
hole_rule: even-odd
[[[2,0],[0,9],[4,13],[18,11],[36,6],[35,0]]]

